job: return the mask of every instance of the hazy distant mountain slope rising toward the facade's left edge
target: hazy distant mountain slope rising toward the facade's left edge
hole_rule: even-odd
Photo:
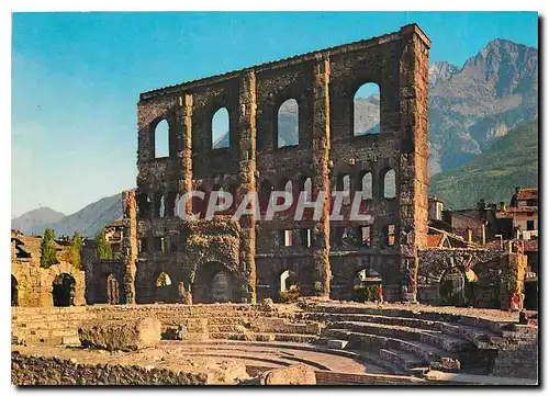
[[[122,218],[122,194],[115,194],[93,202],[56,222],[37,224],[24,233],[42,235],[44,229],[53,228],[56,236],[70,236],[78,231],[83,237],[92,238],[102,227],[120,218]]]

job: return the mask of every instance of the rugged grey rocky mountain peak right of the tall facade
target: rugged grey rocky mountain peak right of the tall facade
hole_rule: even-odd
[[[456,71],[430,67],[429,168],[475,158],[523,121],[537,117],[538,50],[494,39]]]

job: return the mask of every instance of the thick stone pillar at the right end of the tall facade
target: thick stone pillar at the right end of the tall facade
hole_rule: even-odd
[[[401,29],[401,155],[397,201],[401,240],[401,299],[417,294],[417,248],[427,245],[428,222],[428,49],[430,41],[416,25]]]

